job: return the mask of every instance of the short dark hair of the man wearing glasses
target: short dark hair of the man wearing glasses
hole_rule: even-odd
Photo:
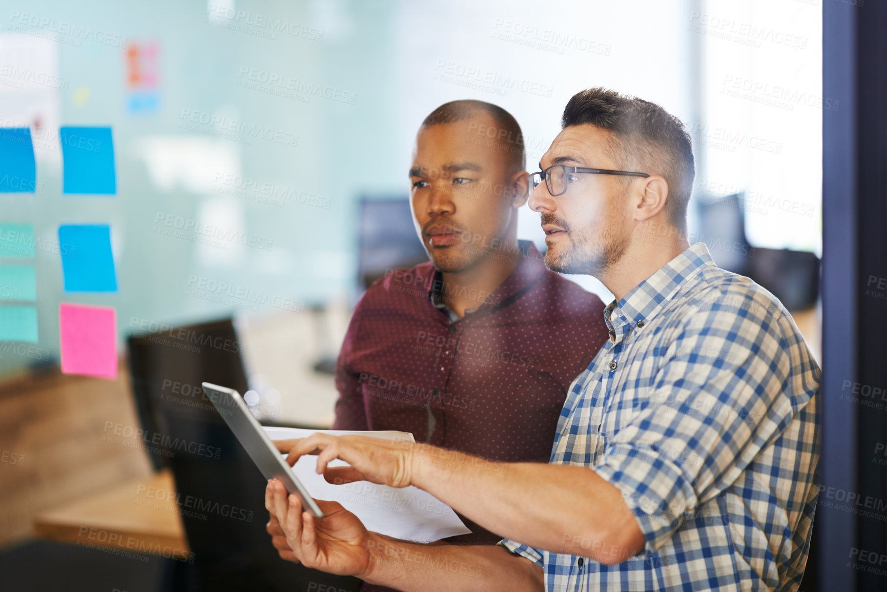
[[[665,178],[669,187],[665,211],[672,225],[686,230],[696,166],[684,124],[655,103],[601,87],[577,92],[564,108],[563,128],[583,123],[613,134],[609,155],[620,169]]]

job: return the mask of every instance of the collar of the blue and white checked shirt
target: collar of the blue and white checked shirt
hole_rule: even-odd
[[[610,339],[618,343],[632,328],[643,327],[679,291],[685,280],[705,266],[714,266],[704,242],[664,264],[653,275],[632,288],[621,300],[604,309]]]

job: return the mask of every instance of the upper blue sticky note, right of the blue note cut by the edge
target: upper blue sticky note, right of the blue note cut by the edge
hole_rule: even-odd
[[[62,126],[62,193],[117,193],[111,128]]]

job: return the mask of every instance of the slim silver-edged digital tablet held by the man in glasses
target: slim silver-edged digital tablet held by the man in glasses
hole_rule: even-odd
[[[240,444],[249,454],[249,458],[253,459],[255,466],[262,471],[264,477],[279,479],[287,488],[287,492],[295,493],[298,496],[302,501],[302,508],[309,511],[311,516],[324,517],[324,513],[320,511],[318,504],[302,486],[293,469],[278,451],[277,446],[274,446],[271,438],[268,438],[262,429],[262,425],[255,420],[239,392],[210,383],[203,383],[203,391],[207,393],[209,400],[216,406],[224,422],[234,432]]]

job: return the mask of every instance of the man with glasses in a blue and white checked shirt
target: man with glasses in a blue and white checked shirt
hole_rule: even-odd
[[[616,300],[550,463],[493,471],[434,446],[326,435],[288,450],[292,462],[319,454],[318,470],[349,462],[327,478],[416,485],[506,540],[392,540],[334,502],[315,520],[272,480],[275,544],[312,567],[423,592],[797,590],[818,493],[819,367],[773,295],[687,244],[695,165],[678,119],[591,89],[562,123],[530,196],[546,264],[592,273]]]

